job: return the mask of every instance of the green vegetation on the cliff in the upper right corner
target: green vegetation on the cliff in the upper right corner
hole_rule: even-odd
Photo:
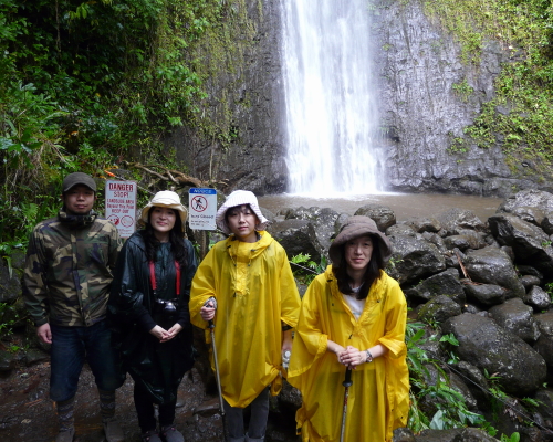
[[[524,160],[538,175],[553,165],[553,6],[549,0],[424,0],[425,11],[461,45],[465,63],[480,65],[483,48],[498,44],[508,63],[495,81],[497,95],[473,125],[456,138],[452,154],[470,145],[500,144],[514,173]],[[463,80],[453,85],[471,93]],[[461,145],[461,146],[460,146]],[[463,145],[463,146],[462,146]],[[465,150],[463,150],[465,149]]]

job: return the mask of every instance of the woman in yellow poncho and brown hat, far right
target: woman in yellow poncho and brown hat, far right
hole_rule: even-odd
[[[303,398],[303,442],[340,440],[346,368],[353,369],[345,436],[389,442],[409,411],[407,305],[384,272],[387,238],[367,217],[352,217],[328,251],[333,262],[307,288],[294,337],[288,381]]]

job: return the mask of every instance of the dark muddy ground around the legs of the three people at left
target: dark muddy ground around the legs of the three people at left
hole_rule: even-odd
[[[0,441],[1,442],[50,442],[58,433],[54,402],[49,399],[50,362],[31,367],[21,366],[9,376],[0,378]],[[206,371],[201,361],[185,376],[175,423],[187,442],[222,441],[219,399],[213,381],[205,381]],[[209,387],[206,389],[205,385]],[[206,391],[207,390],[207,391]],[[133,380],[127,377],[117,390],[117,417],[125,432],[125,441],[140,441],[140,431],[133,402]],[[268,442],[298,442],[292,411],[282,412],[276,399],[272,410],[265,440]],[[75,406],[76,442],[104,441],[100,418],[100,401],[96,385],[85,365],[79,382]]]

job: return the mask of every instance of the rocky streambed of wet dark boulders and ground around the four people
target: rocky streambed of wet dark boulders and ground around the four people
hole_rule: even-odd
[[[289,256],[307,253],[320,262],[333,235],[348,217],[331,208],[282,209],[271,213],[269,228]],[[453,362],[440,368],[469,410],[492,422],[500,434],[521,434],[521,441],[553,441],[553,194],[525,190],[504,200],[498,212],[481,220],[470,210],[450,209],[397,222],[383,204],[361,207],[356,214],[373,218],[394,245],[387,272],[406,294],[414,319],[429,324],[421,347],[437,360]],[[0,322],[24,332],[21,304],[21,256],[11,260],[12,275],[0,267]],[[304,292],[305,286],[301,287]],[[31,330],[32,332],[32,328]],[[213,377],[207,368],[207,351],[197,330],[200,358],[179,391],[184,404],[177,424],[187,441],[222,440]],[[452,335],[458,346],[440,341]],[[54,434],[54,414],[48,399],[48,348],[32,333],[17,333],[2,341],[0,350],[0,438],[7,441],[48,441]],[[430,364],[431,383],[440,379]],[[284,382],[272,399],[268,441],[298,441],[294,411],[299,392]],[[132,382],[118,392],[124,429],[129,441],[138,440],[132,404]],[[76,419],[81,441],[102,440],[96,422],[97,398],[90,373],[80,386]],[[490,389],[504,393],[498,402]],[[436,409],[429,397],[421,407]],[[97,408],[97,407],[96,407]],[[97,419],[96,419],[97,420]],[[100,438],[100,439],[98,439]],[[396,432],[396,441],[492,441],[476,429]]]

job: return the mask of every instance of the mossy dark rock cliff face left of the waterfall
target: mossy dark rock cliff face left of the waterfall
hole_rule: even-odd
[[[194,56],[206,63],[207,105],[201,127],[177,130],[166,146],[190,172],[205,180],[227,180],[229,190],[257,193],[285,190],[283,93],[279,0],[234,2],[220,34],[210,34]],[[206,62],[204,62],[204,60]]]

